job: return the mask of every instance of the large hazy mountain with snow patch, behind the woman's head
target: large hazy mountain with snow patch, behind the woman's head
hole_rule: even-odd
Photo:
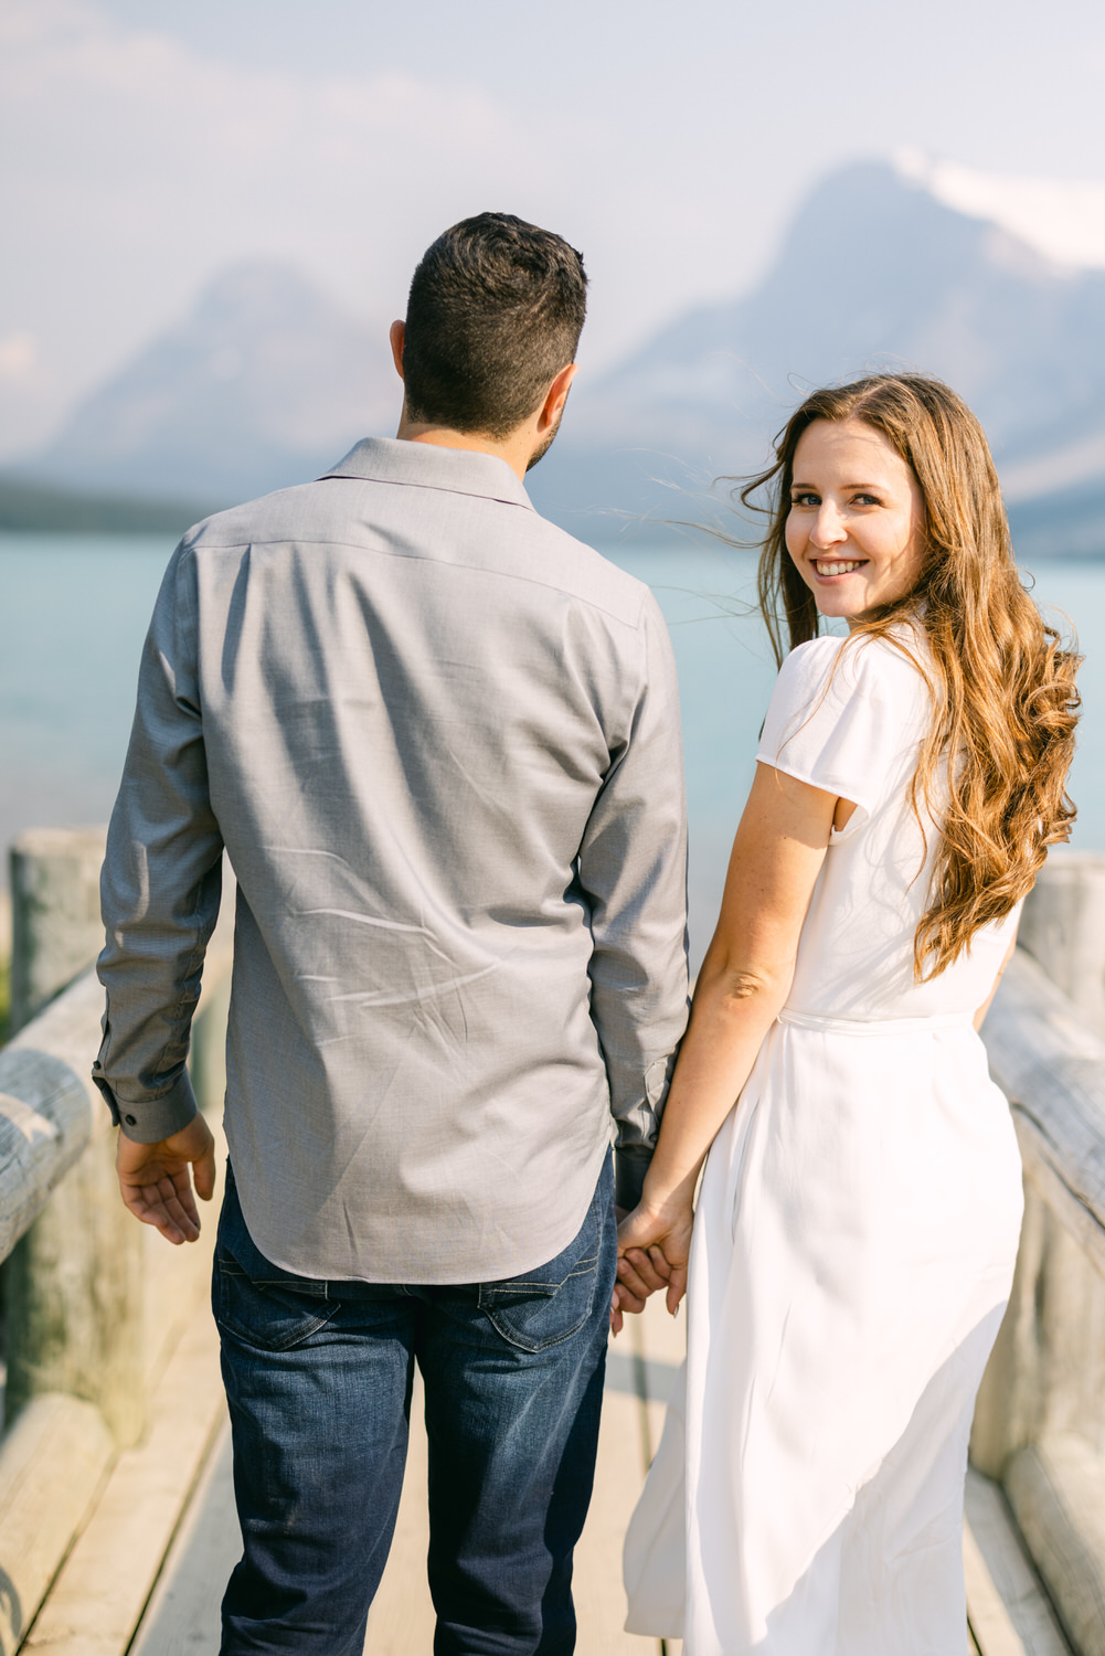
[[[535,500],[580,533],[603,505],[611,523],[701,515],[716,474],[765,464],[807,386],[870,368],[923,368],[964,396],[1034,551],[1062,550],[1064,525],[1105,551],[1105,272],[1055,265],[878,164],[810,195],[747,298],[689,311],[581,384]]]

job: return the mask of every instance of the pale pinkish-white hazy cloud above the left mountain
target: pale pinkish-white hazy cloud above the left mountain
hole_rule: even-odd
[[[495,195],[532,197],[548,174],[464,79],[234,65],[126,31],[86,0],[5,0],[0,149],[0,333],[41,339],[53,386],[31,416],[8,366],[0,449],[27,440],[28,417],[56,419],[227,263],[288,258],[383,326],[432,235]],[[25,348],[12,349],[18,368]]]

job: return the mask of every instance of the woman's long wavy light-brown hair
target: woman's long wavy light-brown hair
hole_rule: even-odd
[[[873,427],[924,497],[928,545],[916,586],[852,628],[906,649],[903,629],[891,629],[910,619],[929,646],[918,666],[934,717],[913,805],[923,798],[933,808],[939,797],[941,845],[913,947],[921,980],[943,972],[981,926],[1009,914],[1032,888],[1047,846],[1070,836],[1075,811],[1065,780],[1082,657],[1060,646],[1021,583],[997,472],[971,409],[926,374],[871,374],[808,396],[775,440],[775,464],[741,490],[746,507],[770,515],[759,598],[780,664],[820,626],[785,543],[795,450],[818,419]],[[755,498],[764,492],[767,505]]]

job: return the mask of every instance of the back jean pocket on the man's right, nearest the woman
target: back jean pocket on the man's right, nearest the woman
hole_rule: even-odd
[[[593,1201],[577,1237],[547,1265],[479,1285],[479,1305],[502,1338],[522,1351],[570,1340],[595,1307],[601,1260],[601,1216]]]

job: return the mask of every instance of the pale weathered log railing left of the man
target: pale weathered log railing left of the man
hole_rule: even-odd
[[[210,1237],[169,1249],[119,1201],[114,1129],[89,1078],[103,990],[103,830],[23,835],[12,853],[12,1023],[0,1050],[0,1653],[12,1656],[205,1293]],[[232,903],[225,904],[227,921]],[[220,1110],[229,995],[220,922],[191,1070]],[[68,985],[68,987],[66,987]]]

